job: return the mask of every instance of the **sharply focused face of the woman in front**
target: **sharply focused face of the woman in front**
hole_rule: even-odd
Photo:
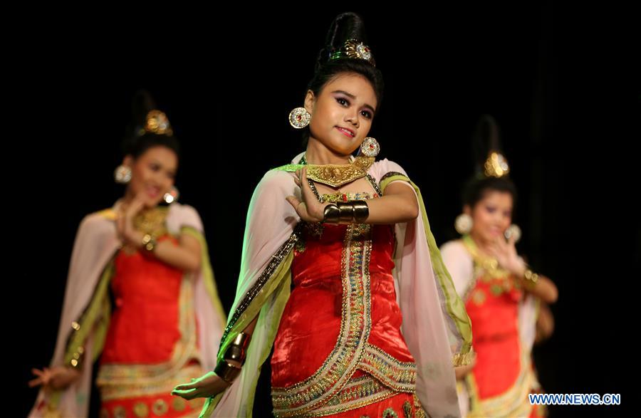
[[[351,154],[368,136],[376,106],[376,94],[367,78],[340,73],[318,96],[311,90],[307,93],[310,136],[337,154]]]

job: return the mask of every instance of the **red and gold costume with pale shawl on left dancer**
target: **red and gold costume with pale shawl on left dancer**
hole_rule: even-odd
[[[38,395],[30,417],[86,417],[93,360],[100,418],[197,417],[202,399],[172,397],[175,385],[213,368],[224,313],[197,212],[181,204],[145,211],[135,227],[178,245],[199,241],[199,271],[185,272],[144,249],[121,247],[118,204],[87,216],[74,244],[52,365],[79,367],[80,379]]]

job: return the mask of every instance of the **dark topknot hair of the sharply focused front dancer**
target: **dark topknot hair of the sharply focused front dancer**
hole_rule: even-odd
[[[330,59],[335,51],[343,47],[345,41],[356,39],[367,45],[365,23],[358,14],[346,12],[339,14],[333,20],[325,46],[318,53],[314,75],[307,85],[307,90],[312,90],[318,96],[320,90],[340,73],[356,73],[363,75],[374,89],[377,101],[377,111],[380,109],[383,93],[382,73],[368,61],[354,58]],[[303,142],[309,139],[309,127],[303,130]]]

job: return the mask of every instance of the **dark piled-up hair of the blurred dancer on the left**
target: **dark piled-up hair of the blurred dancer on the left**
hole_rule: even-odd
[[[180,158],[180,144],[173,134],[156,134],[145,131],[147,114],[157,109],[154,100],[146,90],[139,90],[132,100],[132,124],[127,128],[123,141],[123,152],[134,158],[140,157],[152,147],[167,147]]]

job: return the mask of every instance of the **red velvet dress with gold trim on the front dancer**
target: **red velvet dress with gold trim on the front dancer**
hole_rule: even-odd
[[[390,225],[305,224],[271,360],[276,416],[420,416],[394,248]]]

